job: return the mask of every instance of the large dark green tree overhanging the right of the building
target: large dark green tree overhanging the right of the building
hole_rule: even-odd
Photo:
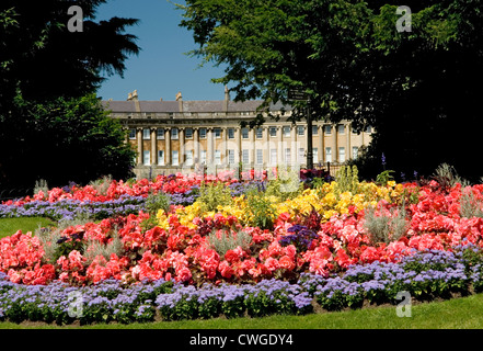
[[[311,118],[350,120],[356,133],[373,126],[367,178],[382,152],[400,172],[447,161],[476,177],[483,167],[464,148],[479,137],[460,137],[453,124],[481,124],[483,88],[472,84],[482,78],[480,2],[407,1],[412,31],[399,32],[398,5],[386,1],[191,0],[181,25],[199,44],[193,55],[227,65],[214,80],[235,82],[235,100],[290,103],[288,91],[301,88]],[[303,104],[295,107],[294,120],[303,118]]]

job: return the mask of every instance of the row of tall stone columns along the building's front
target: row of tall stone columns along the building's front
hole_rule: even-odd
[[[232,127],[234,129],[234,143],[238,147],[238,160],[240,161],[242,160],[242,143],[243,140],[246,140],[249,143],[254,143],[254,145],[252,147],[249,148],[249,152],[250,152],[250,160],[252,162],[255,162],[255,157],[256,157],[256,143],[257,141],[263,141],[264,143],[264,148],[263,148],[263,161],[264,163],[268,163],[269,162],[269,152],[271,152],[271,148],[268,147],[268,145],[271,145],[271,136],[269,136],[269,129],[273,128],[274,126],[266,126],[266,127],[262,127],[263,128],[263,134],[262,134],[262,139],[256,138],[255,137],[255,128],[251,128],[249,129],[249,138],[248,139],[243,139],[242,138],[242,128],[241,127]],[[299,141],[299,135],[298,135],[298,126],[297,125],[290,125],[290,137],[289,139],[287,139],[287,137],[284,137],[284,127],[286,126],[275,126],[276,128],[276,149],[277,149],[277,163],[283,163],[285,160],[285,156],[286,154],[284,152],[284,141],[289,141],[290,145],[290,158],[292,162],[297,161],[298,158],[298,146],[299,147],[303,147],[307,151],[307,131],[302,137],[303,139],[303,144],[302,145],[298,145]],[[340,135],[338,131],[337,131],[337,126],[332,126],[332,143],[331,145],[325,145],[325,134],[324,134],[324,126],[323,125],[318,125],[317,126],[319,128],[319,133],[318,133],[318,144],[313,144],[314,147],[318,147],[319,150],[319,160],[324,160],[326,161],[325,158],[325,147],[331,147],[331,151],[332,151],[332,161],[336,161],[337,156],[338,156],[338,140],[337,140],[337,136]],[[184,127],[176,127],[179,131],[179,143],[180,143],[180,147],[179,147],[179,163],[183,165],[183,162],[185,161],[185,128]],[[193,146],[193,158],[194,161],[196,162],[196,160],[199,160],[199,128],[200,127],[193,127],[193,140],[194,140],[194,146]],[[216,127],[203,127],[206,128],[206,139],[207,139],[207,156],[206,156],[206,162],[208,165],[212,165],[215,162],[215,128]],[[222,127],[221,129],[221,138],[222,141],[221,146],[221,155],[225,158],[225,160],[228,160],[228,129],[230,127]],[[138,127],[137,128],[137,133],[136,133],[136,138],[137,138],[137,151],[138,151],[138,165],[142,165],[142,157],[143,157],[143,127]],[[171,160],[171,128],[170,127],[163,127],[164,129],[164,165],[169,166],[171,165],[172,160]],[[345,143],[345,147],[346,147],[346,159],[352,157],[352,152],[350,152],[350,125],[346,124],[344,125],[344,134],[346,136],[346,143]],[[315,137],[315,136],[313,136]],[[363,138],[364,138],[364,133],[363,133]],[[151,141],[151,147],[150,147],[150,157],[151,157],[151,165],[158,165],[158,127],[150,127],[150,141]],[[364,144],[364,139],[363,139],[363,144]],[[285,144],[286,145],[286,144]],[[237,150],[235,150],[235,155],[237,155]]]

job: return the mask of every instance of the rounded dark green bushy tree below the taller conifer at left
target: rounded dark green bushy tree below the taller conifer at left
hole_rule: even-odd
[[[108,174],[131,177],[135,151],[125,143],[120,123],[108,116],[95,94],[47,103],[16,100],[23,118],[11,129],[10,141],[19,149],[16,159],[4,165],[15,183],[33,185],[44,179],[50,186],[62,186]]]

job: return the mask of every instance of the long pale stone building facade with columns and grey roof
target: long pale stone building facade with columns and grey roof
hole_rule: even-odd
[[[287,121],[289,106],[273,104],[273,114],[285,109],[278,121],[267,118],[256,128],[241,127],[255,118],[261,101],[234,102],[228,91],[220,101],[141,101],[137,92],[126,101],[104,101],[111,117],[129,131],[126,143],[137,150],[137,177],[176,172],[218,173],[229,169],[304,168],[307,124]],[[313,122],[313,165],[343,163],[357,158],[371,139],[371,128],[360,134],[348,122]]]

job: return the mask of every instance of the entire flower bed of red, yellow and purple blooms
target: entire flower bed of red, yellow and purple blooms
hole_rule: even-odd
[[[104,199],[93,189],[71,188],[53,190],[44,201],[56,208],[70,204],[71,213],[99,206],[103,219],[0,240],[2,292],[20,290],[4,296],[0,315],[67,322],[66,301],[58,315],[51,312],[57,307],[34,307],[49,288],[85,295],[82,322],[129,322],[308,313],[314,305],[334,310],[394,303],[401,291],[430,299],[483,286],[483,185],[341,180],[289,188],[279,179],[205,182],[181,176],[119,183],[110,184]],[[148,208],[145,200],[161,194],[184,197]],[[4,206],[21,214],[41,206],[39,196]],[[133,213],[126,213],[129,201],[139,205]],[[108,293],[114,297],[133,297],[123,309],[114,297],[93,293],[104,284],[117,286]],[[30,288],[42,296],[22,303],[28,306],[22,312],[15,296]]]

